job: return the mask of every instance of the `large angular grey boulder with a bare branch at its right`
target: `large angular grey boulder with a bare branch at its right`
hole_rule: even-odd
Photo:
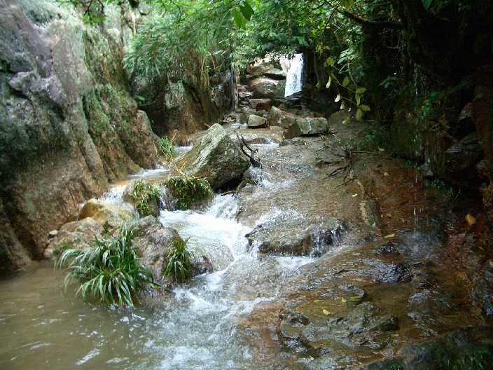
[[[228,132],[216,123],[177,165],[189,176],[205,177],[212,189],[219,189],[229,181],[241,179],[250,161]]]

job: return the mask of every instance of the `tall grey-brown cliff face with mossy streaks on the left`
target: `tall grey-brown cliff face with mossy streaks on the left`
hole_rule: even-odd
[[[0,0],[0,273],[108,182],[158,161],[122,50],[49,1]]]

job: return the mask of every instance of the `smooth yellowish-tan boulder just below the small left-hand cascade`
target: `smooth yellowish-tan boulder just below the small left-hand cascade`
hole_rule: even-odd
[[[123,223],[135,219],[134,215],[129,210],[112,203],[100,202],[94,198],[88,200],[88,203],[85,203],[81,212],[78,214],[79,220],[88,217],[91,217],[98,224],[109,230],[114,230]]]

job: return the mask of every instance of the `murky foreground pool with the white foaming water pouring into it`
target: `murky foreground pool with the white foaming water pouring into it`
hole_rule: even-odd
[[[124,188],[116,184],[102,199],[120,204]],[[238,322],[274,301],[312,259],[259,259],[244,238],[250,228],[232,219],[236,210],[236,198],[216,196],[201,213],[162,211],[162,224],[190,238],[193,253],[206,255],[215,272],[134,310],[90,306],[71,289],[66,295],[64,273],[50,262],[0,280],[0,369],[291,368],[273,357],[279,349],[259,349]]]

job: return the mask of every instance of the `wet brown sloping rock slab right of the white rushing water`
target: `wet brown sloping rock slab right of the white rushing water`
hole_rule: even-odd
[[[237,219],[252,227],[247,238],[265,254],[310,250],[304,249],[311,240],[307,227],[317,230],[328,220],[344,226],[320,259],[284,283],[276,302],[259,304],[244,320],[249,333],[261,335],[265,345],[274,341],[304,369],[356,369],[410,343],[439,342],[451,331],[482,324],[481,310],[489,312],[489,260],[465,252],[484,229],[473,226],[471,238],[464,238],[471,226],[444,233],[450,198],[382,151],[349,157],[348,151],[356,152],[354,132],[366,134],[357,123],[346,130],[338,117],[345,118],[331,117],[334,134],[328,137],[296,137],[268,151],[259,146],[263,168],[249,174],[256,185],[238,194]],[[464,253],[465,275],[454,260]]]

